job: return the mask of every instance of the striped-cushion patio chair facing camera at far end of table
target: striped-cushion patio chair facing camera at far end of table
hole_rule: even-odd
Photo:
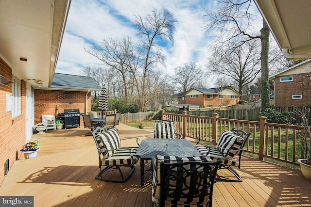
[[[154,129],[155,139],[182,138],[181,133],[176,131],[174,121],[172,120],[155,120]]]

